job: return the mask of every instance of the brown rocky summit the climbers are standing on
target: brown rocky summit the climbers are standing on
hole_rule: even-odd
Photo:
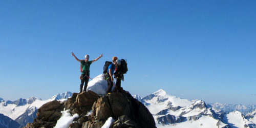
[[[103,96],[93,91],[73,93],[65,102],[48,102],[38,109],[37,117],[25,127],[54,127],[64,110],[79,115],[69,127],[101,127],[110,117],[115,120],[110,127],[156,127],[146,106],[124,90]]]

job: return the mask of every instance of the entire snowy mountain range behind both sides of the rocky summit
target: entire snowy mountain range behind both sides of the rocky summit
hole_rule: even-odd
[[[66,92],[48,100],[31,97],[5,101],[0,98],[0,127],[25,126],[33,122],[41,105],[53,100],[65,101],[71,96],[71,92]],[[139,95],[133,97],[152,113],[157,127],[256,127],[255,105],[190,101],[169,95],[164,90],[143,98]]]

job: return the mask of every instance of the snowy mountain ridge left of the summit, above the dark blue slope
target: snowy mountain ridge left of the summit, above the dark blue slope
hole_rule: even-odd
[[[71,96],[71,92],[66,92],[57,94],[47,100],[30,97],[29,99],[20,98],[15,101],[5,101],[1,98],[0,113],[17,121],[21,126],[25,126],[28,122],[33,122],[33,119],[36,117],[37,109],[40,108],[41,105],[53,100],[65,101]]]

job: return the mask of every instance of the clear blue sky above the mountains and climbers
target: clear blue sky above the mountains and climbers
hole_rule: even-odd
[[[0,97],[79,91],[79,59],[126,58],[121,86],[256,104],[255,1],[0,1]]]

